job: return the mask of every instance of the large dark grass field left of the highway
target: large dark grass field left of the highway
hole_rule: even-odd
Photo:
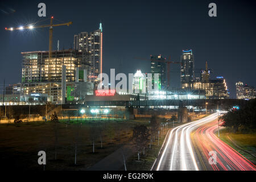
[[[61,121],[57,125],[51,122],[1,124],[2,166],[6,169],[42,170],[43,167],[38,165],[38,151],[43,150],[47,154],[46,170],[84,170],[129,142],[133,126],[148,125],[148,121],[143,119],[132,121],[79,119],[78,122],[77,119],[73,119],[68,125],[66,122]],[[94,140],[94,153],[92,140]],[[77,165],[75,165],[76,144]],[[55,151],[57,160],[55,160]]]

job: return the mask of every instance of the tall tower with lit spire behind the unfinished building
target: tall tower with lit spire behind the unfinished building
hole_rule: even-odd
[[[102,24],[93,32],[81,32],[74,35],[74,49],[89,53],[90,75],[89,81],[98,81],[98,74],[102,73]]]

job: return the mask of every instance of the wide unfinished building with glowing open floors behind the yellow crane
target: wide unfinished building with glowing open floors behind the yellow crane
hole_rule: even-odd
[[[51,60],[49,60],[49,51],[22,52],[22,56],[22,83],[61,82],[63,65],[67,68],[66,81],[76,81],[77,71],[86,72],[84,80],[90,73],[86,52],[72,49],[52,51]]]

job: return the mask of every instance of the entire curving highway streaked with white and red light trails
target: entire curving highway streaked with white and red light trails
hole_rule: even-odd
[[[214,135],[217,117],[214,113],[172,129],[156,160],[156,171],[255,170],[254,164]],[[214,151],[216,164],[209,164]]]

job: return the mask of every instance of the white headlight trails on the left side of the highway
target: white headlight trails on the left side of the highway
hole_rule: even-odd
[[[198,121],[185,123],[172,129],[156,170],[199,170],[197,159],[191,145],[190,133],[194,126],[210,122],[217,114],[209,115]]]

